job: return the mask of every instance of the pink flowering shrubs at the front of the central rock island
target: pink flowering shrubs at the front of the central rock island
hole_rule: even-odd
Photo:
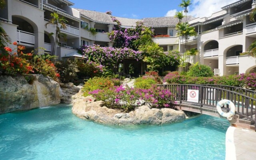
[[[149,104],[152,108],[170,107],[174,96],[170,90],[152,86],[149,89],[114,86],[109,89],[98,89],[89,92],[96,100],[102,100],[108,108],[122,108],[125,111]]]

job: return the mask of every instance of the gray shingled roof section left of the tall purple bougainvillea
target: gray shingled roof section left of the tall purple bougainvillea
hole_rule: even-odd
[[[112,21],[112,16],[103,12],[96,12],[92,10],[82,10],[75,8],[76,10],[80,11],[81,15],[84,16],[84,18],[87,18],[89,20],[92,20],[93,22],[98,23],[105,23],[105,24],[116,24]]]

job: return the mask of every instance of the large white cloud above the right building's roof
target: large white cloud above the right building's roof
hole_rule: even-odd
[[[188,8],[188,15],[194,17],[209,17],[221,10],[222,7],[237,2],[238,0],[192,0]]]

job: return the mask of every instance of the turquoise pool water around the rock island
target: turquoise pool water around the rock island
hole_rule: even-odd
[[[104,126],[59,105],[0,115],[0,160],[224,160],[228,126],[205,115],[164,126]]]

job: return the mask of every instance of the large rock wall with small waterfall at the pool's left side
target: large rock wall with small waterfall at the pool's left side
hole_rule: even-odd
[[[34,75],[28,84],[24,76],[0,76],[0,114],[60,103],[60,85],[52,78]]]

